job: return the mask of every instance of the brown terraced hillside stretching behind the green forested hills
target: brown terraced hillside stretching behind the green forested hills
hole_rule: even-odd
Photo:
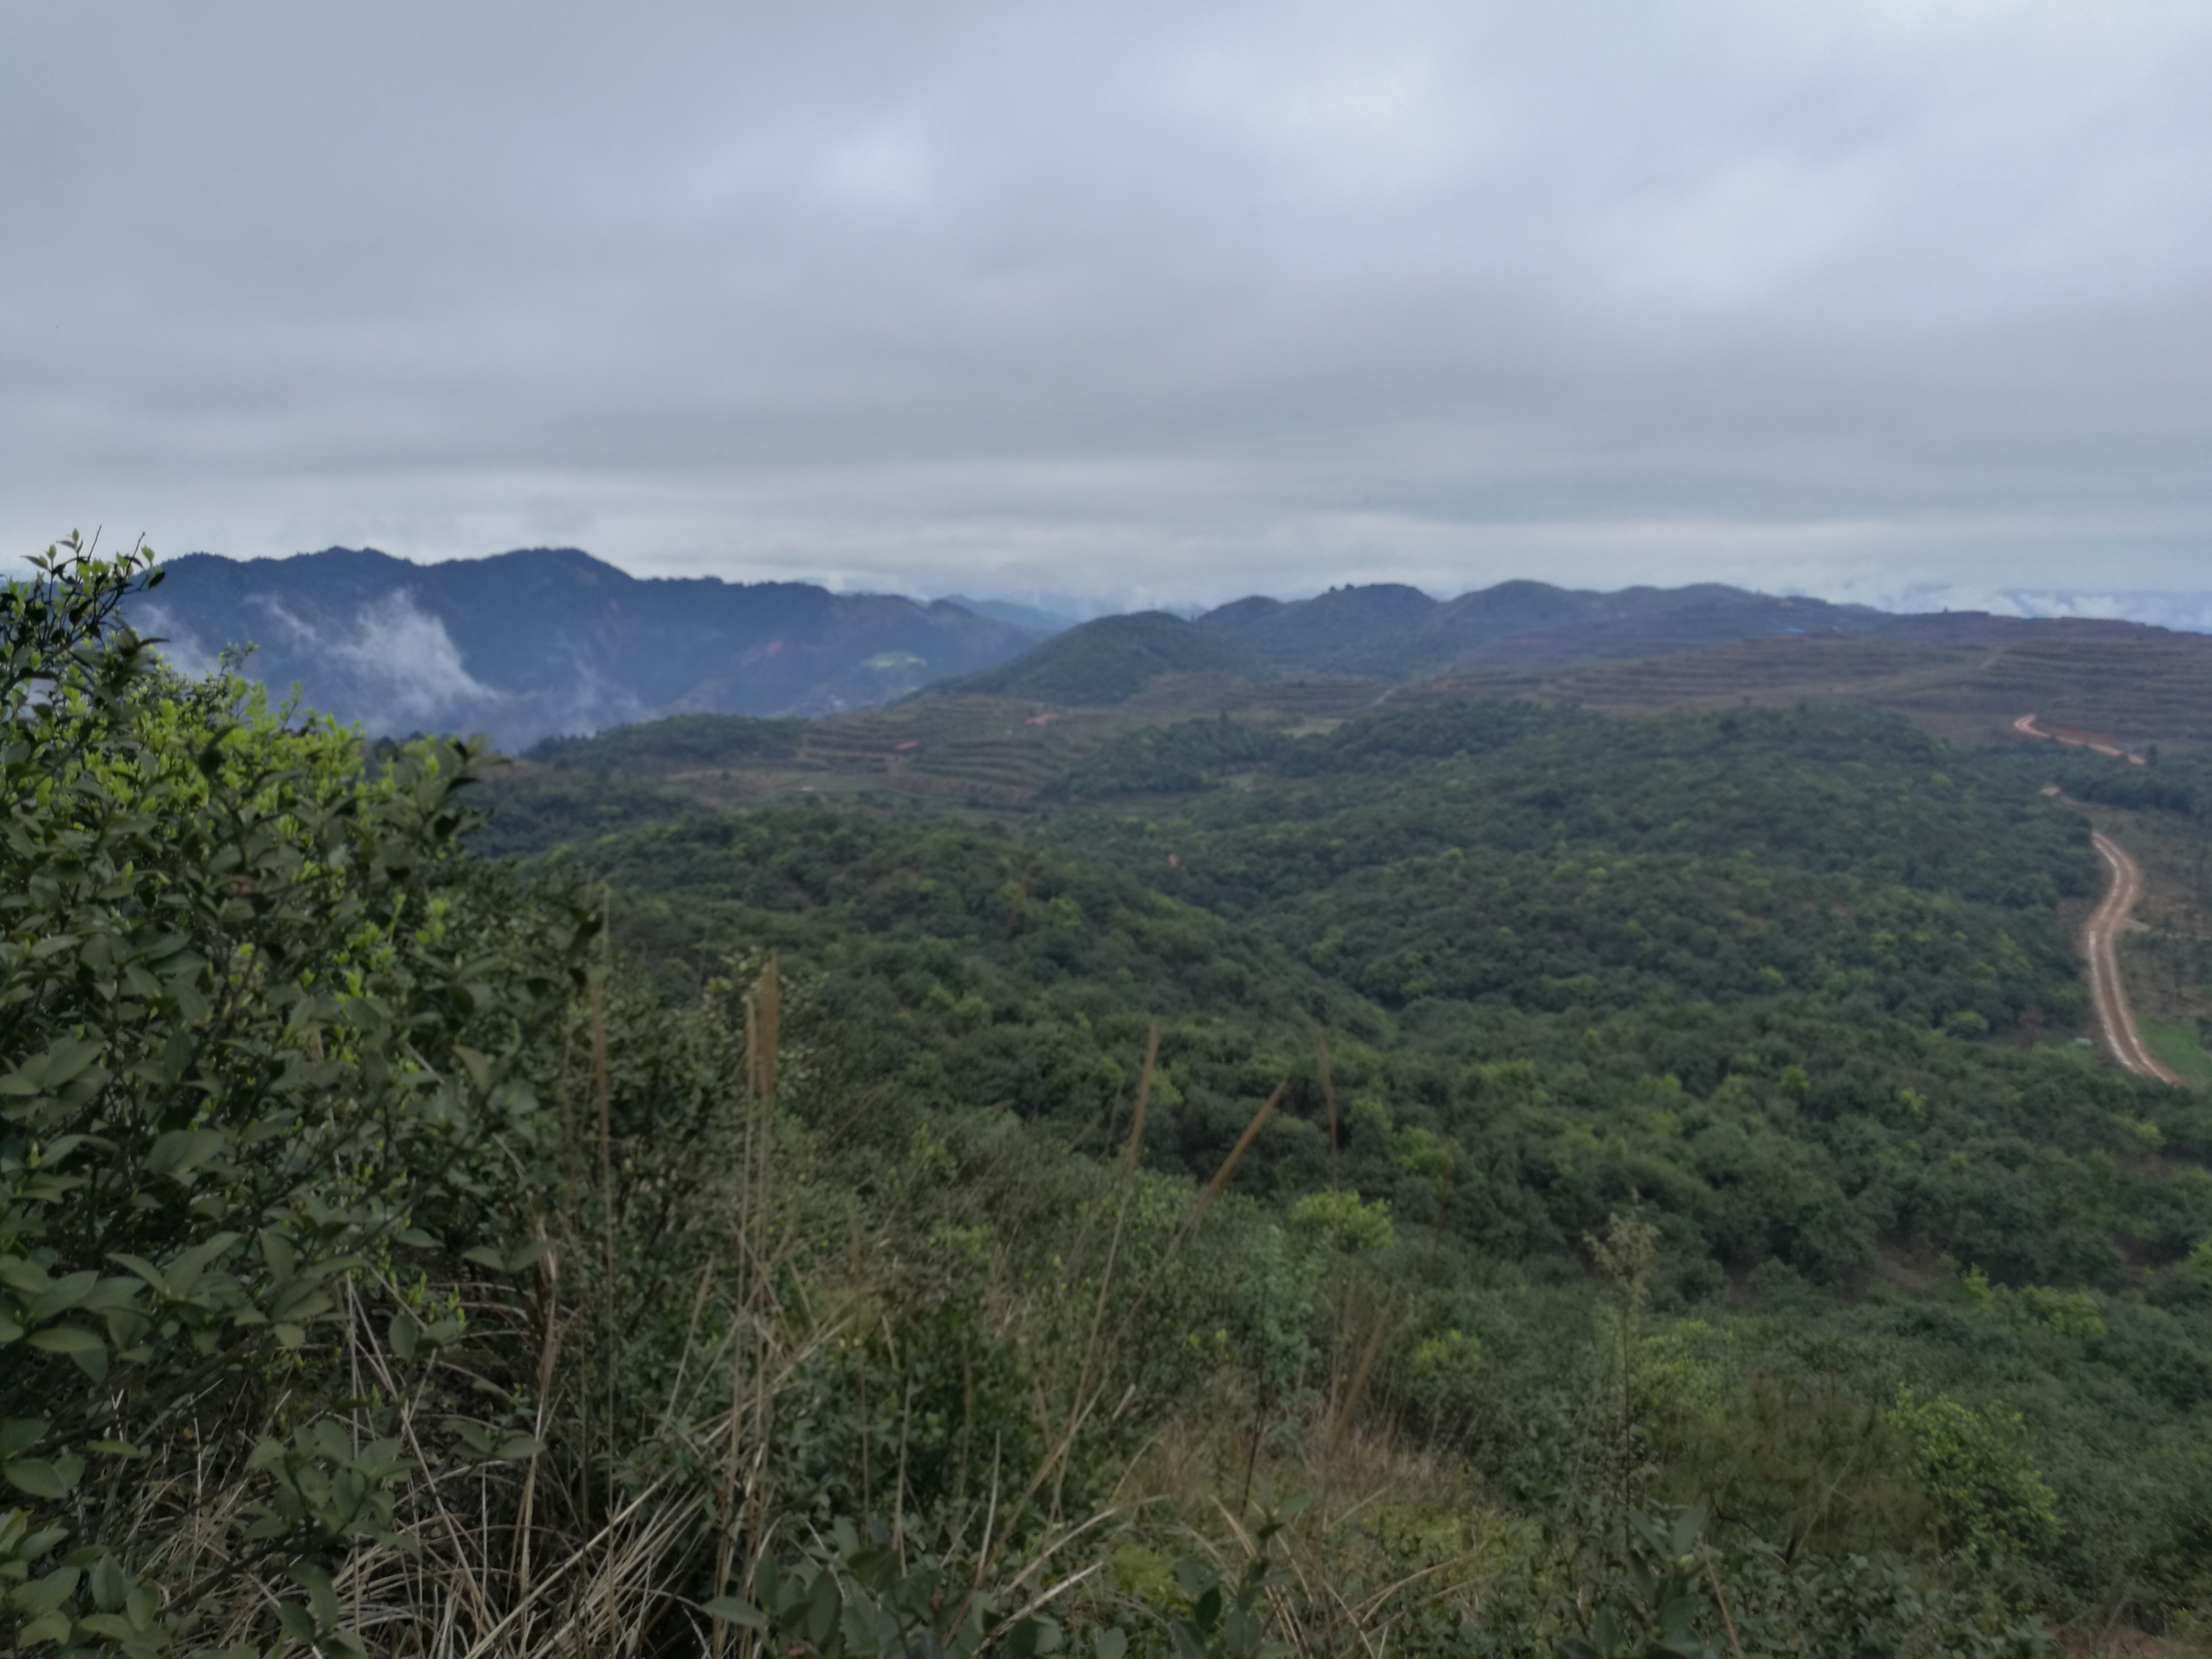
[[[812,799],[1011,823],[1046,807],[1048,785],[1135,728],[1230,719],[1267,732],[1316,732],[1378,708],[1486,699],[1617,714],[1847,703],[1905,714],[1966,745],[2015,743],[2013,721],[2035,712],[2046,726],[2106,734],[2128,750],[2212,748],[2212,637],[1969,613],[1896,622],[1911,626],[1889,635],[1765,635],[1630,661],[1486,668],[1405,684],[1164,672],[1115,703],[925,692],[814,721],[679,717],[551,743],[546,759],[655,779],[688,801],[723,807]]]

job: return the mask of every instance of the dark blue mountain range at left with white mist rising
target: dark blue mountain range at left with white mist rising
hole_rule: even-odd
[[[186,668],[243,672],[372,734],[484,730],[507,748],[657,714],[834,714],[1046,639],[945,599],[810,582],[641,580],[575,549],[411,564],[334,546],[188,553],[131,619]]]

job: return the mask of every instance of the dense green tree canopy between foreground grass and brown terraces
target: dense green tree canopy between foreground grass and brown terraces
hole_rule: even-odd
[[[1502,1411],[1544,1287],[1641,1214],[1652,1305],[1739,1376],[2028,1413],[2086,1586],[2205,1540],[2212,1113],[2088,1046],[2097,869],[2042,776],[1849,710],[1473,703],[1144,728],[1020,836],[783,812],[542,858],[646,958],[774,942],[887,1104],[1106,1144],[1159,1020],[1144,1152],[1206,1179],[1287,1079],[1234,1188],[1429,1230]]]

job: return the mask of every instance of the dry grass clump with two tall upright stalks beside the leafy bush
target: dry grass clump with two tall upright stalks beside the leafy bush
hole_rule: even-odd
[[[776,1281],[790,1267],[796,1230],[781,1225],[787,1192],[776,1157],[776,1073],[783,987],[770,960],[741,995],[743,1037],[730,1055],[726,1113],[732,1179],[721,1190],[726,1248],[690,1290],[675,1380],[650,1447],[617,1444],[615,1356],[626,1340],[608,1011],[586,987],[584,1026],[597,1192],[571,1194],[555,1221],[571,1228],[566,1252],[586,1248],[599,1285],[564,1296],[564,1241],[540,1228],[535,1261],[518,1283],[465,1287],[478,1345],[520,1349],[533,1380],[531,1451],[515,1462],[456,1467],[425,1422],[434,1398],[374,1329],[358,1296],[345,1310],[345,1343],[361,1394],[394,1400],[398,1427],[422,1475],[407,1489],[398,1544],[358,1548],[336,1588],[372,1652],[400,1659],[602,1659],[606,1655],[750,1655],[754,1637],[697,1613],[686,1590],[710,1577],[714,1593],[748,1595],[761,1553],[774,1546],[779,1506],[768,1449],[774,1407],[792,1376],[845,1329],[838,1310],[794,1316]],[[562,1091],[566,1106],[566,1088]],[[564,1113],[573,1124],[573,1115]],[[588,1181],[586,1181],[588,1183]],[[575,1232],[584,1223],[599,1232]],[[385,1287],[398,1296],[396,1285]],[[588,1352],[588,1349],[597,1352]],[[440,1354],[434,1369],[467,1369],[467,1352]],[[599,1371],[599,1378],[591,1374]],[[721,1405],[699,1411],[699,1383],[721,1374]],[[593,1387],[604,1383],[604,1387]],[[562,1447],[571,1453],[564,1455]],[[641,1464],[639,1458],[646,1458]],[[639,1478],[639,1469],[659,1473]],[[628,1473],[626,1473],[628,1471]],[[712,1471],[712,1473],[706,1473]],[[701,1491],[701,1475],[706,1489]],[[549,1502],[551,1500],[551,1502]],[[701,1524],[706,1520],[706,1524]],[[221,1535],[217,1517],[201,1528]],[[230,1628],[285,1593],[281,1582],[241,1595]]]

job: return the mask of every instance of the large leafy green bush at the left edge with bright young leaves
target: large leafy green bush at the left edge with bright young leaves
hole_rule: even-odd
[[[0,593],[7,1595],[18,1644],[343,1650],[330,1566],[447,1449],[363,1433],[345,1332],[533,1110],[586,927],[449,880],[469,752],[369,776],[177,681],[115,622],[142,580],[71,542]]]

